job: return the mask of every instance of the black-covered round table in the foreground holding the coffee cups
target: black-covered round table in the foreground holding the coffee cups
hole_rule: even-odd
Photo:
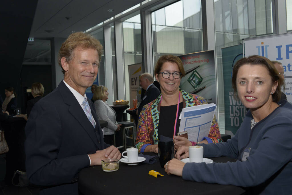
[[[211,158],[215,162],[236,161],[228,157]],[[150,170],[163,174],[157,178],[148,175]],[[79,194],[242,194],[241,187],[208,184],[184,180],[176,175],[167,175],[159,162],[149,165],[127,165],[120,162],[119,170],[104,172],[101,166],[84,168],[79,172]]]

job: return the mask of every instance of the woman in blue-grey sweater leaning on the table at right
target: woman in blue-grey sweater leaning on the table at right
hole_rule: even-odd
[[[251,187],[246,194],[291,194],[292,105],[279,103],[283,78],[262,56],[239,60],[232,71],[234,94],[249,108],[234,137],[204,146],[204,157],[228,156],[230,163],[183,163],[188,147],[180,147],[164,165],[167,174],[185,180]]]

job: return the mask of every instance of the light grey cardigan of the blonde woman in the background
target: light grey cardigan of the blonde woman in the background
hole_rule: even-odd
[[[107,126],[103,128],[104,135],[112,135],[118,128],[116,121],[117,113],[109,106],[109,104],[101,99],[94,101],[94,107],[98,120],[106,120]]]

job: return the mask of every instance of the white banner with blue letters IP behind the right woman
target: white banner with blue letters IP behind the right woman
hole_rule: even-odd
[[[259,55],[282,63],[285,87],[281,91],[286,94],[287,101],[292,103],[292,33],[253,37],[243,40],[246,57]]]

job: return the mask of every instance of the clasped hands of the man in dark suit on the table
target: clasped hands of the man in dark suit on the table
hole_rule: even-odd
[[[91,165],[101,165],[101,160],[105,159],[120,159],[121,158],[121,153],[119,149],[117,149],[114,146],[109,146],[106,149],[103,150],[98,150],[94,154],[88,154],[90,160],[91,160]]]

